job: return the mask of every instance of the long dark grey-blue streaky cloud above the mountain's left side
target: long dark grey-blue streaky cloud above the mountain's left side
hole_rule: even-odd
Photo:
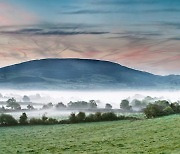
[[[102,35],[107,31],[88,30],[88,25],[60,26],[60,25],[35,25],[24,27],[0,28],[0,34],[6,35]],[[88,28],[88,29],[87,29]]]

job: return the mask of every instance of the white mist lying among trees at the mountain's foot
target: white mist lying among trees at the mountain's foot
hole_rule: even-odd
[[[70,110],[56,110],[55,107],[48,110],[40,110],[44,104],[52,102],[54,105],[63,102],[67,105],[70,101],[89,101],[95,100],[98,108],[104,108],[106,103],[112,105],[113,109],[120,108],[120,102],[128,99],[130,102],[134,99],[142,101],[150,96],[156,100],[168,100],[169,102],[178,102],[180,100],[180,91],[22,91],[22,90],[0,90],[0,106],[6,106],[2,102],[14,97],[17,102],[21,102],[21,108],[27,109],[27,103],[23,102],[23,96],[30,98],[30,102],[37,109],[35,111],[25,111],[28,117],[42,117],[47,115],[58,119],[67,118],[72,112]],[[24,111],[10,112],[9,114],[18,118]],[[78,112],[78,111],[77,111]]]

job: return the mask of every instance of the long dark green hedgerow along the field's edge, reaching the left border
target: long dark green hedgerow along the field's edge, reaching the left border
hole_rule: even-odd
[[[117,116],[113,112],[94,113],[86,115],[84,112],[78,114],[72,113],[67,120],[57,120],[43,115],[41,118],[28,118],[26,113],[22,113],[19,120],[16,120],[9,114],[0,115],[0,126],[16,126],[16,125],[53,125],[53,124],[74,124],[84,122],[100,122],[100,121],[115,121],[115,120],[138,120],[136,117]]]

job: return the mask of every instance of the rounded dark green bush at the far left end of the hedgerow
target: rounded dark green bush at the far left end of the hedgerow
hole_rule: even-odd
[[[1,114],[0,115],[0,125],[2,126],[13,126],[17,125],[18,121],[11,115],[9,114]]]

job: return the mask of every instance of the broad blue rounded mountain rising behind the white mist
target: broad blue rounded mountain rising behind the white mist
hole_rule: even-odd
[[[41,59],[0,68],[0,87],[14,89],[178,89],[180,76],[158,76],[93,59]]]

